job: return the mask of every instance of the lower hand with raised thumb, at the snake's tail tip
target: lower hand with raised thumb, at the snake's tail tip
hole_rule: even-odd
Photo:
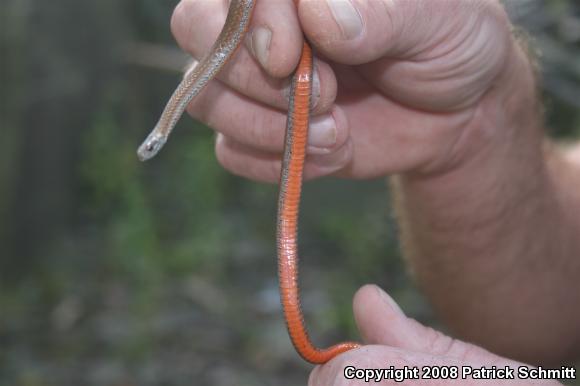
[[[380,382],[365,383],[360,379],[347,379],[346,368],[356,369],[410,369],[417,368],[419,379],[409,379],[404,384],[429,385],[473,385],[479,382],[498,383],[497,378],[488,380],[474,379],[474,375],[466,375],[462,379],[463,369],[481,368],[513,369],[515,379],[502,381],[502,385],[558,385],[556,381],[518,379],[518,368],[533,367],[523,363],[501,358],[477,346],[452,339],[417,321],[407,318],[399,306],[379,287],[367,285],[362,287],[354,298],[354,313],[359,331],[367,344],[359,349],[348,351],[330,362],[317,366],[310,374],[309,386],[346,386],[361,384],[396,385],[394,379],[383,379]],[[426,367],[440,368],[432,372],[432,379],[426,379],[429,374]],[[455,370],[457,369],[457,373]],[[352,370],[346,375],[352,377]],[[437,374],[442,378],[437,379]],[[522,373],[523,374],[523,373]],[[445,379],[444,377],[449,377]],[[501,376],[501,375],[500,375]],[[391,377],[392,378],[392,377]],[[487,383],[489,384],[489,383]]]

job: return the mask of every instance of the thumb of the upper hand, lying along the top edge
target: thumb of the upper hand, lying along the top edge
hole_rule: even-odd
[[[298,14],[316,48],[343,64],[439,57],[462,44],[484,44],[474,41],[479,32],[493,39],[494,31],[509,30],[504,9],[492,0],[302,0]]]

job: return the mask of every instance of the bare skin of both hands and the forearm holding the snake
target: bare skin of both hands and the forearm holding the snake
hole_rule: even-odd
[[[404,254],[454,336],[527,363],[578,357],[580,152],[545,139],[533,65],[499,2],[330,3],[257,3],[245,48],[188,108],[217,131],[220,163],[277,182],[302,29],[318,56],[305,177],[396,175]],[[182,1],[178,43],[201,57],[226,11]],[[368,288],[354,310],[373,346],[311,385],[348,384],[345,363],[514,364],[374,307]]]

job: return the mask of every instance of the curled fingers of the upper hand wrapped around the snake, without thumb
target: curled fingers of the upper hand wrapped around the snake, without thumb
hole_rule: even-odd
[[[221,30],[226,7],[220,2],[184,0],[172,30],[185,50],[202,57]],[[292,37],[295,37],[294,39]],[[296,66],[302,32],[291,0],[257,2],[245,46],[189,105],[188,112],[221,133],[220,162],[245,177],[278,179],[289,98],[287,76]],[[336,79],[328,64],[315,61],[305,178],[334,173],[352,157],[342,110],[330,111]],[[321,114],[322,113],[322,114]]]

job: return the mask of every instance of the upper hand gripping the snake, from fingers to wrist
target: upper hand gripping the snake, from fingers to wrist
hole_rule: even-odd
[[[182,0],[173,33],[200,58],[226,12]],[[529,91],[499,1],[302,0],[297,14],[292,0],[258,0],[245,47],[188,109],[236,174],[279,178],[301,29],[318,54],[306,178],[451,169],[493,142],[502,128],[489,120],[505,123],[507,98]]]

